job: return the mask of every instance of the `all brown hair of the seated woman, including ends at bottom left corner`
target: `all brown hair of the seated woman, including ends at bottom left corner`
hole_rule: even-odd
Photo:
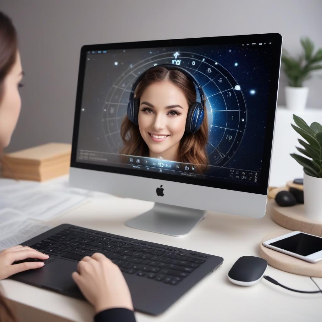
[[[0,103],[4,95],[4,80],[16,60],[17,33],[11,19],[0,11]],[[2,147],[0,147],[1,162]],[[1,292],[1,290],[0,290]],[[0,322],[15,322],[8,300],[0,294]]]

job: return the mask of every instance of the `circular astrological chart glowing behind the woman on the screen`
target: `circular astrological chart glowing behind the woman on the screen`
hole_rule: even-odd
[[[189,71],[204,90],[209,125],[209,162],[213,166],[224,166],[236,153],[246,128],[247,107],[241,86],[220,62],[203,55],[166,52],[166,49],[150,53],[149,58],[131,64],[107,93],[102,110],[102,124],[110,151],[117,153],[123,145],[120,127],[127,114],[129,96],[137,77],[152,66],[174,64]],[[197,100],[199,97],[197,92]]]

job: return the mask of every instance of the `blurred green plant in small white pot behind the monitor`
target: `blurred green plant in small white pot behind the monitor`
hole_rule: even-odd
[[[288,109],[303,110],[308,98],[308,87],[303,82],[311,77],[312,71],[322,69],[322,48],[314,54],[314,44],[308,38],[301,38],[302,53],[292,57],[285,49],[282,52],[282,67],[288,79],[285,87],[285,100]]]

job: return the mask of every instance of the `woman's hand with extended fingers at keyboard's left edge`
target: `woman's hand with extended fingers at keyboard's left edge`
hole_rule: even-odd
[[[16,260],[25,260],[26,258],[38,258],[46,260],[48,255],[36,251],[28,246],[14,246],[0,251],[0,280],[5,279],[13,274],[43,267],[44,263],[39,261],[13,264]]]

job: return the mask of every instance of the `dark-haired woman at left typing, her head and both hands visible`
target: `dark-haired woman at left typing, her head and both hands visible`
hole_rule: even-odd
[[[17,36],[11,20],[0,12],[0,156],[11,139],[18,120],[21,100],[18,88],[23,77]],[[30,247],[17,245],[0,251],[0,280],[15,273],[41,269],[44,262],[15,261],[27,258],[48,259],[48,255]],[[118,266],[103,254],[84,257],[72,278],[87,300],[94,306],[95,322],[134,322],[131,295]],[[7,300],[0,295],[0,322],[17,321]]]

